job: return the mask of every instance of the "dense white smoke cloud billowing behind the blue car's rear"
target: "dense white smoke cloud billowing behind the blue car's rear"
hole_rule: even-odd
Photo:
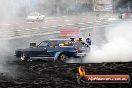
[[[105,37],[108,42],[102,46],[92,45],[84,62],[132,61],[131,25],[131,21],[124,21],[106,28]]]

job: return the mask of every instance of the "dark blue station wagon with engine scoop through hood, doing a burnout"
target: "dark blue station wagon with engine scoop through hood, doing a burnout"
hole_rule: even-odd
[[[30,43],[30,48],[17,49],[15,56],[23,61],[41,59],[65,62],[70,57],[84,57],[89,50],[89,45],[82,40],[51,39],[42,41],[37,46],[36,43]]]

